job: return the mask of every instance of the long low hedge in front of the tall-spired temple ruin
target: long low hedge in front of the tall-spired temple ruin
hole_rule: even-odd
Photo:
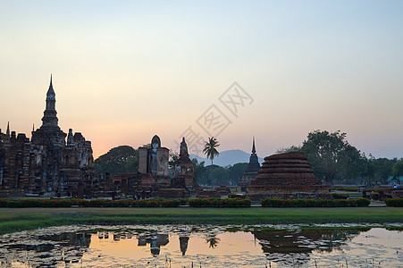
[[[186,205],[186,199],[141,199],[141,200],[108,200],[108,199],[0,199],[0,207],[177,207]]]

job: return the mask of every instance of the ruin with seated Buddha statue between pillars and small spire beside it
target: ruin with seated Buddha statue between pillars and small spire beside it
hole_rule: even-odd
[[[170,173],[169,149],[161,147],[161,139],[155,135],[150,147],[139,147],[139,172],[114,175],[111,194],[135,199],[188,198],[200,190],[185,138],[181,142],[178,161]]]

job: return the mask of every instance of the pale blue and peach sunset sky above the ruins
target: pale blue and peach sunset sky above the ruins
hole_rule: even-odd
[[[0,129],[273,155],[309,132],[403,157],[402,1],[0,0]]]

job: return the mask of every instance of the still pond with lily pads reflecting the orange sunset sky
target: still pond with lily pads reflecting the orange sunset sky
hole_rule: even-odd
[[[403,267],[403,232],[63,226],[0,236],[1,267]],[[274,229],[274,230],[273,230]]]

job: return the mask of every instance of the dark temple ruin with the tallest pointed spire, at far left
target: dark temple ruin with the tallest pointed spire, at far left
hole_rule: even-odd
[[[0,130],[0,197],[79,196],[84,186],[94,186],[91,142],[59,128],[55,102],[51,77],[42,126],[32,130],[31,140],[10,134],[9,124]]]

